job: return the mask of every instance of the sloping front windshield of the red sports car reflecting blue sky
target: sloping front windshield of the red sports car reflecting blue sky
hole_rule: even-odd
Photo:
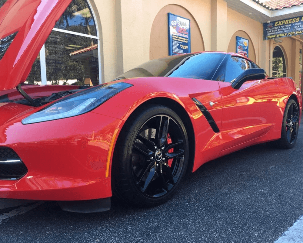
[[[225,53],[190,53],[150,60],[119,76],[133,77],[184,77],[211,80],[226,56]]]

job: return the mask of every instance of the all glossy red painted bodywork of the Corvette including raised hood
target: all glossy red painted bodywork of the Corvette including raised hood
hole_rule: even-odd
[[[0,60],[0,95],[5,94],[2,96],[7,98],[5,102],[22,98],[14,88],[27,78],[40,48],[70,2],[11,0],[0,9],[0,39],[18,31]],[[232,88],[231,83],[176,77],[116,82],[133,86],[90,112],[53,121],[22,124],[23,118],[52,102],[35,108],[13,102],[0,103],[0,147],[13,149],[28,169],[19,180],[0,180],[0,198],[111,197],[110,151],[116,145],[114,134],[118,131],[119,136],[129,116],[145,102],[163,105],[174,102],[185,111],[193,127],[193,134],[188,134],[195,147],[193,171],[219,156],[280,138],[285,105],[291,96],[298,101],[301,118],[301,92],[289,78],[247,81],[238,90]],[[37,98],[78,86],[22,88]],[[220,132],[214,132],[192,98],[205,106]]]

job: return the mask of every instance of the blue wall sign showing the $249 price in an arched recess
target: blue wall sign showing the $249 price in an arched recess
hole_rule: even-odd
[[[168,13],[168,55],[190,53],[190,20]]]

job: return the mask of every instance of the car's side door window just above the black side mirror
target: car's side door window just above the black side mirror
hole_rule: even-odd
[[[253,68],[251,62],[238,56],[232,56],[226,65],[225,82],[235,81],[248,68]]]

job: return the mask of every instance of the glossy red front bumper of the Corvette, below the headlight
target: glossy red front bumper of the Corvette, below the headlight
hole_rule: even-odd
[[[112,196],[106,177],[109,145],[123,121],[88,112],[22,125],[19,117],[0,126],[0,148],[13,149],[28,172],[0,180],[0,198],[92,200]],[[110,173],[109,173],[110,175]]]

